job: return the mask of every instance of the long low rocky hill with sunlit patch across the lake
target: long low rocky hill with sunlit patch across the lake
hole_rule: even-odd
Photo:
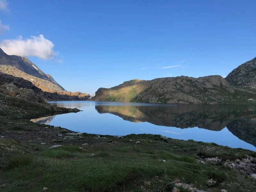
[[[92,100],[180,103],[252,104],[256,95],[234,89],[221,76],[166,77],[149,81],[131,80],[112,88],[100,88]]]

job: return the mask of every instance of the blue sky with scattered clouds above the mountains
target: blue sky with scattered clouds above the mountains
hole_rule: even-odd
[[[256,1],[0,0],[0,47],[66,90],[227,76],[256,57]]]

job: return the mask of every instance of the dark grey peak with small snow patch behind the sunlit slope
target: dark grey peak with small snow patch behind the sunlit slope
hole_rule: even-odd
[[[60,89],[61,91],[66,91],[63,87],[60,86],[60,84],[58,84],[52,78],[51,75],[45,74],[40,68],[36,66],[35,63],[32,63],[28,58],[20,57],[17,55],[7,55],[1,48],[0,48],[0,65],[11,66],[28,75],[49,81],[52,84],[55,84],[56,87],[58,87],[58,89]],[[10,75],[16,76],[18,75],[18,73],[17,71],[15,71],[15,73]],[[22,77],[22,76],[19,76],[19,77]]]

